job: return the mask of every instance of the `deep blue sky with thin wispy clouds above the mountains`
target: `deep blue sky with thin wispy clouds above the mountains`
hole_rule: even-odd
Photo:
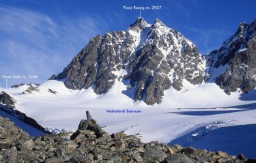
[[[38,79],[8,79],[8,86],[40,83],[59,73],[90,37],[126,30],[139,10],[123,6],[161,5],[142,11],[149,23],[160,18],[193,41],[201,54],[219,48],[240,22],[256,18],[254,0],[0,0],[0,87],[3,75],[38,75]]]

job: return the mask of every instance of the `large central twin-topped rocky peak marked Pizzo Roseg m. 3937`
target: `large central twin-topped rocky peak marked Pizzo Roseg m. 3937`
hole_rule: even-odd
[[[183,80],[201,84],[203,58],[197,47],[160,20],[147,24],[138,18],[126,31],[97,35],[70,64],[50,79],[65,79],[71,89],[93,88],[104,94],[115,82],[134,88],[134,101],[160,103],[164,90],[181,90]],[[118,80],[117,80],[118,79]]]

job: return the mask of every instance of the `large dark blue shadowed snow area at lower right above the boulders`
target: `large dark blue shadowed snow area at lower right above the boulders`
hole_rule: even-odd
[[[236,156],[238,156],[238,153],[243,153],[248,158],[256,158],[256,124],[212,129],[203,126],[170,141],[168,144],[179,144],[185,147],[193,146],[210,151],[226,151],[229,155]]]

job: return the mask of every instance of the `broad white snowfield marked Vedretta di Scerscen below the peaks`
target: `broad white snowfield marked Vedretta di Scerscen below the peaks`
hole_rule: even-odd
[[[18,101],[16,109],[33,117],[44,127],[74,131],[79,121],[85,119],[85,111],[89,110],[109,133],[125,130],[127,134],[139,133],[145,142],[174,142],[223,150],[229,154],[243,152],[248,157],[256,158],[256,153],[249,152],[253,151],[253,145],[243,147],[246,143],[255,143],[255,134],[241,133],[244,130],[248,133],[255,131],[256,90],[248,94],[233,92],[229,96],[214,83],[194,86],[185,80],[182,90],[177,92],[171,88],[165,91],[160,105],[148,106],[143,101],[134,103],[126,95],[129,92],[122,93],[126,85],[118,80],[104,95],[96,95],[91,88],[69,90],[63,82],[56,80],[41,84],[38,87],[40,92],[20,94],[26,89],[26,86],[0,88]],[[57,93],[53,94],[48,89]],[[106,109],[141,110],[141,113],[108,113]],[[205,131],[205,128],[208,130]],[[216,130],[218,128],[221,130]],[[230,130],[237,130],[240,134],[236,137]],[[229,133],[234,139],[226,142]],[[233,144],[235,141],[242,143]],[[244,149],[234,150],[233,145]]]

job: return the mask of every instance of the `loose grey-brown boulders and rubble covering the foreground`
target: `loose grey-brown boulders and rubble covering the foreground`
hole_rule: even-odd
[[[70,138],[70,139],[69,139]],[[79,130],[29,137],[8,118],[0,116],[0,162],[256,162],[240,154],[142,143],[124,132],[107,134],[94,120],[81,121]]]

